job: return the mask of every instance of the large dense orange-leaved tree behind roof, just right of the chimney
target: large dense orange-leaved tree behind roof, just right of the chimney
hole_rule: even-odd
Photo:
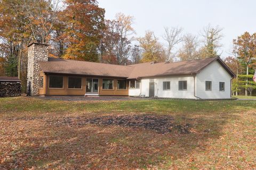
[[[66,24],[64,42],[67,49],[63,58],[98,61],[98,45],[105,28],[105,10],[96,0],[66,0],[62,22]]]

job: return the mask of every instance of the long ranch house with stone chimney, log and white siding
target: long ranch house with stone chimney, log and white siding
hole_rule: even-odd
[[[49,57],[49,46],[28,46],[31,95],[145,96],[230,99],[235,74],[219,58],[113,65]]]

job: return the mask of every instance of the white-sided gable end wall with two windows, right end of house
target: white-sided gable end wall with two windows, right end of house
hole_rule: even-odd
[[[196,96],[202,99],[229,99],[230,98],[230,74],[214,61],[196,75]],[[205,90],[205,81],[212,82],[212,90]],[[225,82],[225,91],[219,91],[219,82]]]

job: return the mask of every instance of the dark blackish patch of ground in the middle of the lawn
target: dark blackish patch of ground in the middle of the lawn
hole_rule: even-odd
[[[60,125],[119,125],[127,128],[144,128],[153,130],[157,133],[170,133],[173,130],[178,130],[180,133],[189,133],[190,124],[180,125],[174,123],[172,116],[156,116],[149,114],[142,115],[109,115],[93,118],[80,117],[65,117],[60,118],[56,122],[50,122],[57,126]]]

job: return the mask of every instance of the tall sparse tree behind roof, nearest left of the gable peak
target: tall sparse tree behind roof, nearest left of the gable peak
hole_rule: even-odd
[[[202,58],[215,57],[218,55],[218,48],[221,47],[220,40],[223,38],[222,29],[217,25],[212,27],[210,24],[203,29],[202,37],[204,46],[200,50]]]

